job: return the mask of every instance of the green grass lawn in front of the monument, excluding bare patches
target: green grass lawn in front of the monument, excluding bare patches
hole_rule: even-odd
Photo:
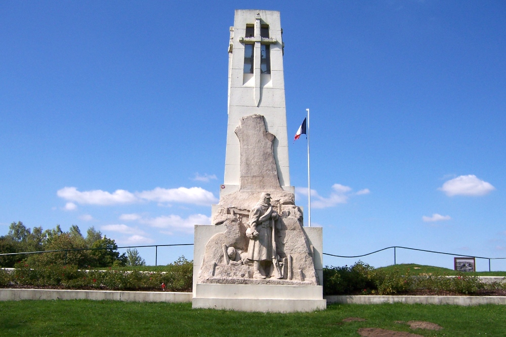
[[[504,336],[506,306],[330,305],[312,313],[192,310],[191,304],[113,301],[0,302],[1,336],[359,336],[360,327],[423,336]],[[365,322],[343,322],[347,317]],[[395,321],[437,323],[410,330]],[[486,334],[485,334],[486,333]]]

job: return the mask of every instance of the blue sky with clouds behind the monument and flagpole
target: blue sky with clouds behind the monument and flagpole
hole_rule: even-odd
[[[506,257],[501,1],[4,1],[0,235],[22,221],[94,226],[120,245],[192,243],[223,182],[228,29],[252,6],[281,12],[289,135],[311,108],[326,253]],[[305,208],[306,151],[289,143]],[[154,264],[154,249],[139,251]],[[191,247],[160,249],[158,263],[181,254]],[[407,251],[397,262],[453,265]]]

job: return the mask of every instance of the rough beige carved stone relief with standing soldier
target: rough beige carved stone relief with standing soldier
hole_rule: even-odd
[[[301,209],[279,184],[275,136],[261,115],[240,123],[240,188],[220,198],[212,221],[226,229],[207,242],[197,282],[317,285]]]

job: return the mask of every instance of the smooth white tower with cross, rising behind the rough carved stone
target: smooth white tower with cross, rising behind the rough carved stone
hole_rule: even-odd
[[[254,114],[264,116],[266,131],[275,135],[277,180],[282,189],[293,192],[288,164],[282,33],[277,11],[235,11],[228,49],[228,129],[222,196],[241,186],[241,147],[235,131],[242,117]],[[247,177],[242,180],[242,187],[251,182],[244,181]]]

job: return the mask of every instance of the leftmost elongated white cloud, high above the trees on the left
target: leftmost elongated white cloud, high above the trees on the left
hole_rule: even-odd
[[[130,204],[137,201],[131,192],[124,189],[117,189],[111,194],[101,189],[80,192],[76,187],[63,187],[56,194],[65,200],[89,205]]]

